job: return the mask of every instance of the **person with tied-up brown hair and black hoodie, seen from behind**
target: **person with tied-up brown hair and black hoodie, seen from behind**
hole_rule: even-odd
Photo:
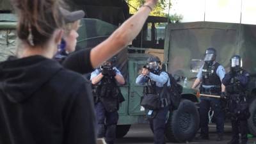
[[[62,2],[11,2],[19,52],[0,63],[0,143],[95,144],[91,90],[80,74],[52,60],[63,37]]]

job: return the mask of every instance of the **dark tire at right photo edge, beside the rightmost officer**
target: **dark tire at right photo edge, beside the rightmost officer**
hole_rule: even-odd
[[[249,106],[250,118],[248,118],[248,128],[251,134],[256,136],[256,99]]]

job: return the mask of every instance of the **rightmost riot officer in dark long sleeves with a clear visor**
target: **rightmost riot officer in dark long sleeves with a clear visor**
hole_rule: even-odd
[[[246,101],[247,85],[250,81],[248,72],[242,68],[242,60],[240,56],[233,56],[230,60],[231,67],[222,80],[226,86],[227,96],[227,116],[232,122],[232,140],[228,144],[239,144],[239,133],[241,133],[241,144],[247,143],[247,118],[250,113],[248,110],[248,102]]]

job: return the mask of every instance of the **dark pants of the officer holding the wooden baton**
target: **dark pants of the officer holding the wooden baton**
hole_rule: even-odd
[[[209,138],[209,109],[212,108],[214,111],[214,119],[216,120],[217,133],[222,135],[224,132],[224,113],[221,111],[220,99],[212,97],[200,97],[200,129],[201,136],[204,138]]]

